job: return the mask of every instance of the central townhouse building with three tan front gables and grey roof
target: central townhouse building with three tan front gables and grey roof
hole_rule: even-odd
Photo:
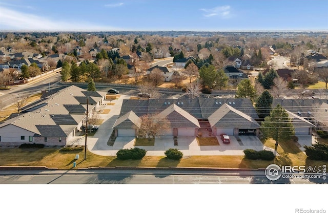
[[[249,99],[138,99],[124,100],[113,129],[118,137],[135,137],[140,117],[154,114],[166,118],[170,128],[164,136],[258,135],[257,113]],[[238,122],[236,122],[238,121]]]

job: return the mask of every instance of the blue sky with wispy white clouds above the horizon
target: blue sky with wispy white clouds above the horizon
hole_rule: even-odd
[[[326,0],[0,0],[0,31],[328,30]]]

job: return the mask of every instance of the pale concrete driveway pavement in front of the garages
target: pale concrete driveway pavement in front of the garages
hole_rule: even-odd
[[[87,138],[88,150],[100,156],[116,156],[118,150],[122,148],[133,148],[134,137],[117,137],[113,146],[107,145],[112,134],[112,127],[119,116],[121,105],[124,99],[130,98],[128,95],[118,95],[119,98],[112,101],[112,105],[101,105],[97,110],[110,110],[108,114],[99,114],[100,119],[104,119],[103,124],[99,125],[99,129],[94,136]],[[110,101],[105,100],[105,103]],[[104,111],[106,112],[106,111]],[[223,144],[217,136],[219,145],[199,146],[197,140],[193,136],[179,136],[178,145],[174,145],[173,136],[161,136],[155,138],[154,146],[137,146],[147,151],[147,156],[165,156],[165,151],[169,148],[177,148],[184,156],[243,156],[243,150],[251,148],[256,151],[270,150],[272,148],[264,146],[256,136],[239,136],[242,143],[239,143],[234,136],[230,136],[230,144]],[[315,138],[311,136],[299,137],[298,143],[302,146],[314,143]],[[85,136],[75,136],[69,145],[84,145]]]

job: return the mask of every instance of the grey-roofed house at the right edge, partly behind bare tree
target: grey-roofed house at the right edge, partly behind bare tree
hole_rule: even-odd
[[[310,135],[314,127],[328,130],[327,99],[273,99],[272,107],[277,104],[293,119],[296,135]]]

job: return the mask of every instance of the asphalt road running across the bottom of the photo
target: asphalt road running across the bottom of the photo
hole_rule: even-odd
[[[0,184],[314,184],[322,179],[281,178],[270,181],[263,171],[1,171]]]

